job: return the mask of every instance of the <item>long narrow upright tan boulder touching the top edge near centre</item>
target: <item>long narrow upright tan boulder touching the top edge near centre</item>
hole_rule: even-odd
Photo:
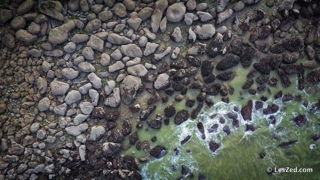
[[[167,9],[168,1],[167,0],[159,0],[156,1],[154,5],[154,11],[151,16],[151,28],[152,32],[156,33],[160,27],[160,21],[164,11]],[[182,19],[182,18],[181,18]]]

